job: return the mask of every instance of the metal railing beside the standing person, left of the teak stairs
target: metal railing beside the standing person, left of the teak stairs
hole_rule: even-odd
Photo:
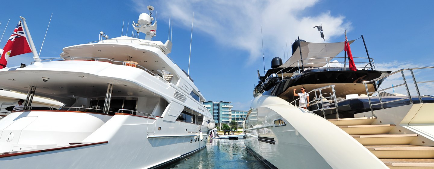
[[[332,93],[322,93],[322,90],[329,89],[329,88],[331,88]],[[312,91],[310,91],[310,92],[308,92],[306,94],[309,94],[309,93],[312,93],[312,92],[315,93],[315,98],[316,99],[313,99],[309,103],[306,103],[306,107],[307,107],[307,104],[310,104],[310,103],[316,103],[316,104],[317,103],[321,103],[321,108],[319,108],[319,106],[317,106],[318,109],[311,110],[311,112],[322,111],[322,115],[324,116],[324,119],[325,119],[325,110],[335,109],[335,111],[336,111],[336,119],[339,119],[338,103],[336,102],[336,94],[335,94],[335,85],[329,85],[329,86],[324,86],[324,87],[320,87],[320,88],[317,88],[317,89],[313,89]],[[319,95],[317,94],[317,92],[319,93]],[[330,96],[328,96],[328,95],[330,95]],[[323,96],[327,96],[327,97],[323,98]],[[299,100],[299,99],[300,98],[295,99],[294,101],[292,101],[289,104],[290,105],[293,105],[293,103],[296,104],[296,101]],[[332,99],[333,103],[335,104],[335,107],[324,108],[324,102],[322,101],[322,99]],[[293,105],[293,106],[297,106],[297,105]]]

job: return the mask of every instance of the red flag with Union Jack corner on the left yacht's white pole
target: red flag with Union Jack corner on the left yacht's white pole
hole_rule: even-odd
[[[3,48],[3,53],[0,54],[0,69],[6,67],[7,60],[9,57],[30,53],[29,43],[27,43],[26,35],[23,31],[23,25],[21,25],[21,20],[16,25],[15,30],[13,30],[12,35],[10,35],[9,40],[7,40],[6,45]]]

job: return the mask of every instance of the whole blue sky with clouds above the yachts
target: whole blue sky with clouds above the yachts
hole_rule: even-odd
[[[194,12],[190,75],[207,101],[232,102],[234,110],[247,110],[253,88],[270,68],[273,57],[288,58],[291,43],[300,36],[308,42],[323,42],[312,27],[322,24],[326,42],[357,39],[363,34],[377,70],[434,65],[434,14],[431,1],[343,0],[22,0],[2,3],[0,33],[9,25],[0,42],[6,43],[20,16],[26,18],[39,53],[49,18],[53,19],[43,45],[41,58],[59,57],[62,48],[98,40],[100,31],[110,38],[131,36],[129,22],[137,22],[146,6],[155,7],[156,40],[168,39],[169,16],[173,19],[173,48],[169,55],[181,69],[188,69],[191,19]],[[155,17],[155,15],[154,15]],[[122,21],[124,31],[122,32]],[[261,26],[263,48],[261,42]],[[142,34],[139,38],[144,38]],[[365,57],[361,39],[351,45],[353,56]],[[285,52],[284,52],[285,50]],[[284,56],[285,54],[285,56]],[[343,55],[343,53],[341,53]],[[11,57],[8,67],[32,62],[32,55]]]

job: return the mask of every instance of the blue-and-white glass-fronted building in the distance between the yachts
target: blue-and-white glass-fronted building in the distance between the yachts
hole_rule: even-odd
[[[238,127],[243,127],[244,120],[246,120],[247,111],[231,110],[233,105],[230,102],[204,102],[204,106],[214,116],[216,126],[221,127],[222,124],[229,124],[230,121],[236,120]]]

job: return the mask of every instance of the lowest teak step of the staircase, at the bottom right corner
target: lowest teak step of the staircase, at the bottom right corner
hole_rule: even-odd
[[[391,169],[434,169],[434,159],[380,159]]]

